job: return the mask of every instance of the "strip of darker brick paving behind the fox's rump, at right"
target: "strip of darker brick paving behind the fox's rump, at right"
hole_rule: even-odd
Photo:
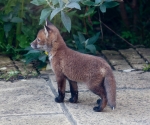
[[[137,48],[125,50],[103,50],[102,54],[115,70],[142,70],[150,63],[150,49]]]

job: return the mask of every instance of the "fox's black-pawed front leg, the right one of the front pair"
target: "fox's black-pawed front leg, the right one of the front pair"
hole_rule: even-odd
[[[69,102],[76,103],[78,101],[78,86],[77,82],[69,80],[70,85],[70,92],[71,92],[71,98],[69,99]]]

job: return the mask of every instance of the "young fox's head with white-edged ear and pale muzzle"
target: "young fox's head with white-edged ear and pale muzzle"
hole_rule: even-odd
[[[46,21],[44,28],[38,32],[36,39],[31,43],[31,47],[50,52],[53,43],[57,41],[58,34],[58,29],[52,23]]]

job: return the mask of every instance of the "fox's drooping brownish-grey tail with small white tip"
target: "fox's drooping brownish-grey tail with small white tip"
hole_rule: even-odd
[[[104,79],[108,104],[111,109],[116,108],[116,81],[112,72],[109,72]]]

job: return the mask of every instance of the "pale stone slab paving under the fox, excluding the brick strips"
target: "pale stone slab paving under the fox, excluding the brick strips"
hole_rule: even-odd
[[[54,74],[43,78],[0,81],[0,125],[149,125],[150,72],[114,71],[117,108],[94,112],[97,96],[79,84],[79,102],[72,104],[67,84],[65,102],[54,102]]]

